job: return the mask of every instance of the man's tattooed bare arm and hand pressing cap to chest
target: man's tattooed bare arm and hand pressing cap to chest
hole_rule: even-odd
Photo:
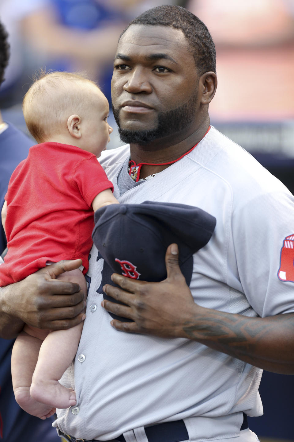
[[[106,285],[103,290],[126,305],[106,300],[101,305],[134,321],[112,320],[116,330],[193,339],[264,370],[294,374],[294,313],[253,318],[201,307],[180,271],[176,244],[167,248],[166,267],[162,282],[112,275],[121,289]]]

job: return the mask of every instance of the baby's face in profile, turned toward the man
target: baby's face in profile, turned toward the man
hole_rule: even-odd
[[[91,99],[85,103],[82,121],[82,148],[97,158],[106,149],[112,133],[112,127],[107,122],[108,114],[109,105],[105,95],[98,88],[91,88]]]

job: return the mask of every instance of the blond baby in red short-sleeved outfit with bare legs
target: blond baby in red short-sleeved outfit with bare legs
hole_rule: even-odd
[[[26,125],[40,144],[9,183],[2,210],[8,252],[0,266],[1,286],[61,259],[81,259],[81,270],[58,278],[77,282],[86,298],[93,213],[118,203],[97,161],[112,133],[108,112],[97,85],[69,72],[43,73],[26,93]],[[59,379],[81,333],[82,324],[51,333],[25,325],[13,347],[11,372],[15,399],[26,412],[45,419],[55,408],[76,404],[73,389]]]

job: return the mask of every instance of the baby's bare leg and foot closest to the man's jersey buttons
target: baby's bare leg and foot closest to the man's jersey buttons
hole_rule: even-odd
[[[86,280],[80,270],[60,276],[59,279],[77,282],[86,297]],[[83,323],[68,330],[52,331],[42,343],[30,387],[34,400],[56,408],[68,408],[77,403],[75,392],[61,385],[59,379],[78,350],[82,327]]]

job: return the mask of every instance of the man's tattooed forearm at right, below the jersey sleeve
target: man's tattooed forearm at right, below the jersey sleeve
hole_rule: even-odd
[[[252,318],[195,305],[194,322],[182,326],[189,339],[264,370],[294,374],[294,313]]]

